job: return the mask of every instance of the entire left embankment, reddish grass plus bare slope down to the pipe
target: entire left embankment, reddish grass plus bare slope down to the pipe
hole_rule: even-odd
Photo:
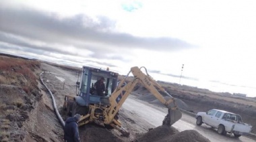
[[[39,72],[38,61],[0,56],[0,141],[62,139]]]

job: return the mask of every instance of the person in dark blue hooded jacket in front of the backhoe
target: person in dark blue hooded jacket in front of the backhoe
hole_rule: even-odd
[[[64,127],[64,140],[65,142],[80,142],[78,132],[78,121],[81,115],[76,114],[74,117],[67,118]]]

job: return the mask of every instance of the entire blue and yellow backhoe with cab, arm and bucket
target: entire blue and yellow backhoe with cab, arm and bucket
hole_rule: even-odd
[[[67,115],[73,116],[76,113],[82,115],[78,123],[79,126],[86,123],[96,123],[104,127],[110,125],[119,130],[123,136],[129,136],[129,133],[121,126],[117,115],[133,88],[140,83],[168,108],[168,114],[162,122],[163,125],[172,125],[179,121],[182,114],[177,108],[174,98],[148,74],[146,68],[144,68],[146,74],[141,72],[141,68],[137,66],[131,68],[127,76],[132,73],[134,79],[126,84],[127,76],[118,82],[119,74],[115,72],[83,66],[82,78],[77,83],[77,88],[79,88],[77,96],[65,96],[63,108],[67,109]],[[105,96],[98,96],[95,93],[94,84],[102,76],[105,79]],[[158,90],[164,92],[165,96],[169,96],[169,99],[166,100]]]

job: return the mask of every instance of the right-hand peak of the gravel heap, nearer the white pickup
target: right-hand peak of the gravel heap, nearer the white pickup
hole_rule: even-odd
[[[177,133],[175,135],[169,135],[168,137],[165,137],[161,140],[164,141],[175,141],[175,142],[207,142],[210,140],[206,137],[203,137],[203,135],[199,134],[195,130],[185,130],[181,131],[180,133]]]

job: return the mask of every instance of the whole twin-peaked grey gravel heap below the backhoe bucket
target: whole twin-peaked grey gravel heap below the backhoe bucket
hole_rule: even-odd
[[[209,139],[203,137],[195,130],[185,130],[179,132],[174,127],[160,126],[152,129],[148,133],[145,133],[137,137],[137,141],[175,141],[175,142],[210,142]]]

